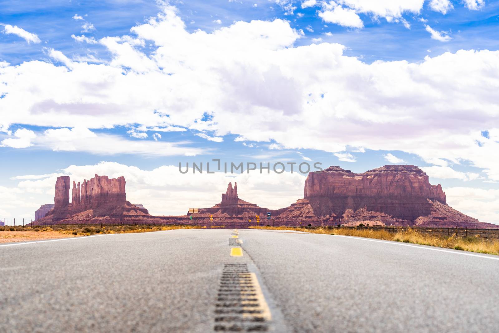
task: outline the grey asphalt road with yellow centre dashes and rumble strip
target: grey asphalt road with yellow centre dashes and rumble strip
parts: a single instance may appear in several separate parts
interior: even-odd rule
[[[0,245],[0,332],[499,332],[498,259],[271,230]]]

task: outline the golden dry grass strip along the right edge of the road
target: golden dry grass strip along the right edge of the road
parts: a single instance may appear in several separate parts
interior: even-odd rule
[[[499,240],[487,239],[476,236],[457,237],[429,235],[418,232],[414,229],[407,231],[390,233],[383,229],[355,229],[355,228],[290,228],[290,227],[250,227],[251,229],[272,229],[272,230],[297,230],[314,234],[343,235],[364,238],[382,239],[387,241],[404,242],[412,244],[430,245],[439,248],[463,250],[478,253],[499,255]]]

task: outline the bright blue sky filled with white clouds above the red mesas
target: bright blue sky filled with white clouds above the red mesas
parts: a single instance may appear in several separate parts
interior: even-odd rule
[[[152,197],[178,184],[150,176],[221,158],[416,164],[451,206],[499,223],[499,1],[389,2],[0,1],[0,218],[94,170],[180,214],[188,187],[215,204],[232,178],[186,179],[165,205]],[[303,176],[272,177],[240,179],[241,196],[302,195]]]

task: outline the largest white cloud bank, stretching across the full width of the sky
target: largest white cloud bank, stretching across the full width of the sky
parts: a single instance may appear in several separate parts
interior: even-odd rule
[[[0,128],[187,128],[286,149],[398,150],[499,180],[498,51],[366,63],[336,43],[295,46],[301,34],[281,19],[189,32],[171,6],[131,33],[99,40],[108,64],[54,50],[60,63],[1,67]],[[146,40],[155,45],[149,54]],[[211,119],[200,121],[207,110]]]

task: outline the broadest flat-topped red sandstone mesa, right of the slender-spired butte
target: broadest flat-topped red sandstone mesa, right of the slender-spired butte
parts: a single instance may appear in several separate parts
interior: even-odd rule
[[[451,208],[440,185],[415,165],[385,165],[364,173],[338,166],[310,172],[304,198],[287,207],[279,224],[495,227]]]

